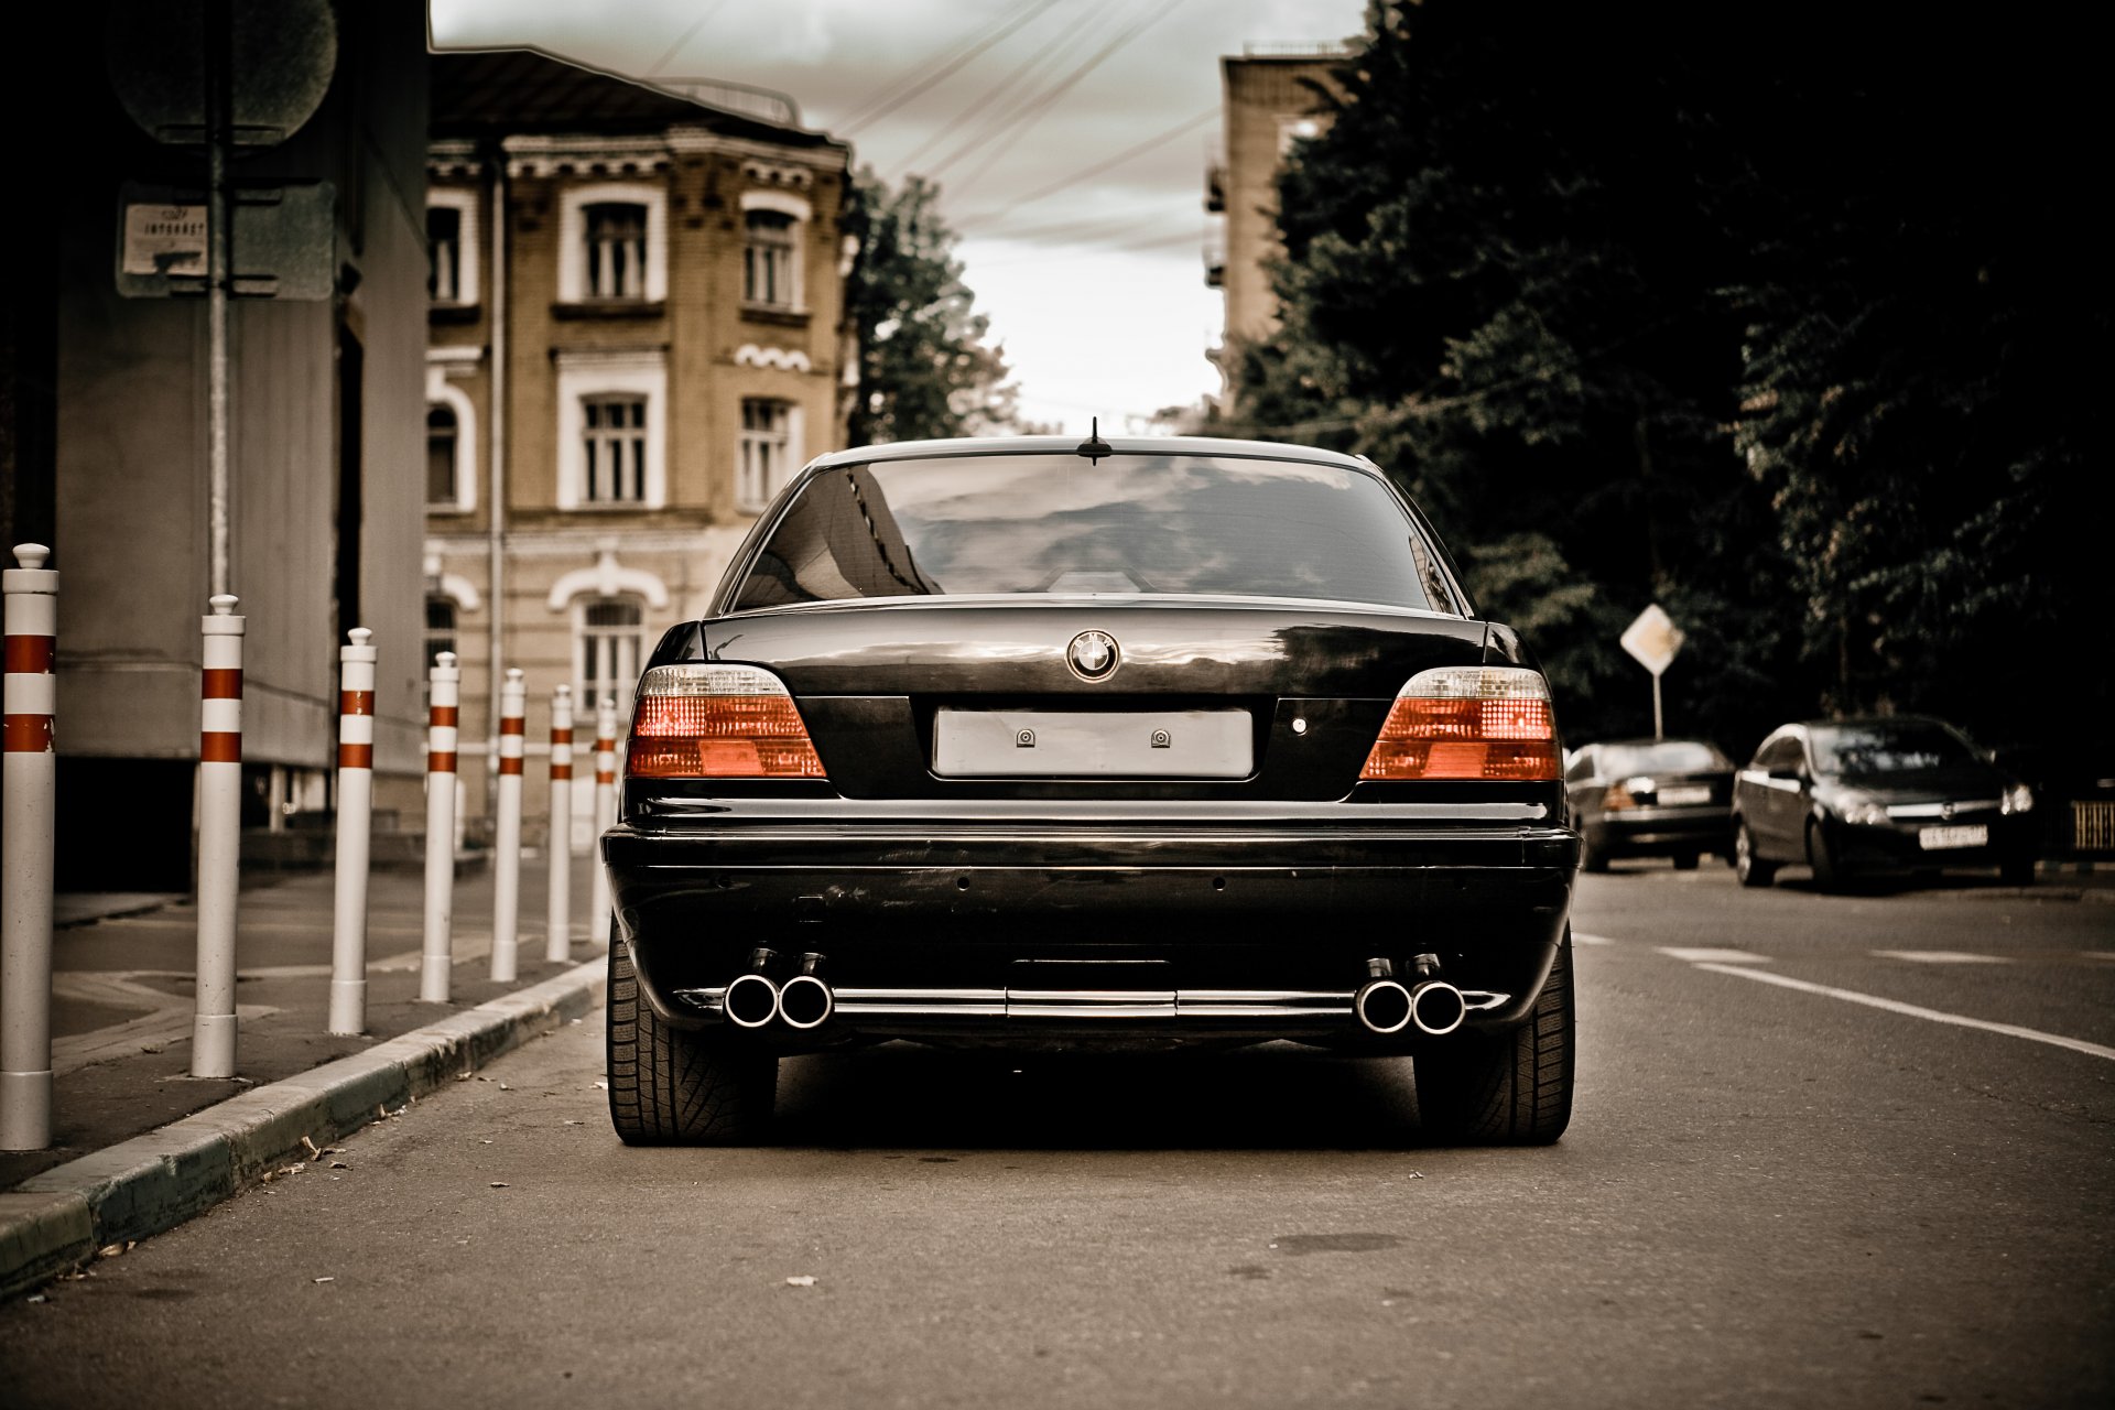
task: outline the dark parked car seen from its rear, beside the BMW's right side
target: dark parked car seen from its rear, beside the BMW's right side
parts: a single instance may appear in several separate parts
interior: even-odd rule
[[[1612,856],[1671,856],[1694,871],[1705,852],[1732,854],[1732,759],[1707,740],[1586,744],[1565,769],[1586,871]]]

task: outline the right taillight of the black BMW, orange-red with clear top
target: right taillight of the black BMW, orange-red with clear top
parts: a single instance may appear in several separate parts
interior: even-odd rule
[[[1411,676],[1360,778],[1555,780],[1550,685],[1521,666],[1440,666]]]

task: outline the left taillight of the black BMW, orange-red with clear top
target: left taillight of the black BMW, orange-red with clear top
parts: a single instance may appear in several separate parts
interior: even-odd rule
[[[656,666],[632,700],[632,778],[825,776],[785,681],[759,666]]]

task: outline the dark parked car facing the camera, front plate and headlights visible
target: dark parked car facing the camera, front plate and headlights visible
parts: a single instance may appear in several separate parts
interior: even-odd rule
[[[1734,778],[1734,871],[1768,886],[1781,862],[1806,862],[1827,888],[1861,873],[1997,867],[2024,886],[2033,808],[2026,784],[1944,721],[1785,725]]]

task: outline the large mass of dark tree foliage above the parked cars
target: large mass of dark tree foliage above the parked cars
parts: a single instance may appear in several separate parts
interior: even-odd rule
[[[1392,467],[1578,738],[1650,727],[1616,647],[1648,600],[1690,636],[1671,729],[2020,734],[1984,681],[2085,586],[2085,129],[1965,85],[1946,34],[1686,23],[1400,6],[1282,178],[1282,328],[1235,349],[1231,429]]]

